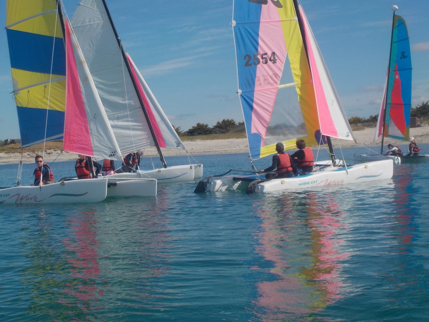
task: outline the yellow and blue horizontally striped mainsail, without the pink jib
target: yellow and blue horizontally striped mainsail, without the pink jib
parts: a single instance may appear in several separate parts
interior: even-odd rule
[[[66,55],[57,1],[7,0],[6,34],[22,147],[61,139]]]

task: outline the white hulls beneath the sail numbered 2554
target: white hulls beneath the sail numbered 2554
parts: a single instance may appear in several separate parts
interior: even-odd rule
[[[366,162],[347,167],[327,167],[305,176],[272,179],[256,184],[254,192],[270,192],[279,190],[297,190],[320,186],[341,186],[383,179],[393,176],[393,161],[382,160]],[[249,176],[251,177],[251,176]],[[235,178],[235,179],[234,179]],[[207,191],[225,191],[246,189],[249,181],[237,180],[237,176],[225,176],[207,183]]]

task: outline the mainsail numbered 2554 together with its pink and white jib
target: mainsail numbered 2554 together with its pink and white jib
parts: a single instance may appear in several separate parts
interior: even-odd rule
[[[323,135],[353,140],[297,1],[234,1],[233,27],[238,93],[251,158],[275,153],[279,141],[292,149],[296,139],[310,146],[319,144]]]

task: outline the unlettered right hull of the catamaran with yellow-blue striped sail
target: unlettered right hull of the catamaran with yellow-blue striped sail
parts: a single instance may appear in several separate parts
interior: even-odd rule
[[[107,197],[155,197],[156,195],[156,179],[108,178]]]

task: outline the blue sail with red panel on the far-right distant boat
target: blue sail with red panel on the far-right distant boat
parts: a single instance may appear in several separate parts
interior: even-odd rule
[[[393,16],[390,65],[374,140],[381,135],[408,141],[411,114],[411,52],[405,20]],[[385,115],[385,117],[384,117]],[[383,122],[384,120],[384,122]]]

